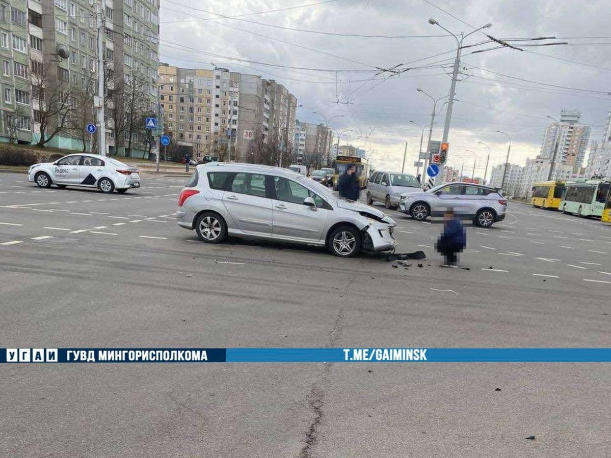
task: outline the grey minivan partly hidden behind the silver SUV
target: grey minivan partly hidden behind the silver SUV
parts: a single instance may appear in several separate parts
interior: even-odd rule
[[[376,171],[367,182],[367,204],[378,201],[387,209],[397,208],[402,194],[420,191],[420,182],[409,173]]]

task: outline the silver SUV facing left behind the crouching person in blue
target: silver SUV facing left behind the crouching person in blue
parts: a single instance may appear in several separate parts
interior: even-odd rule
[[[420,193],[401,195],[399,210],[423,221],[441,216],[451,207],[456,215],[473,220],[477,226],[490,227],[505,219],[507,200],[500,188],[470,183],[447,183]]]

